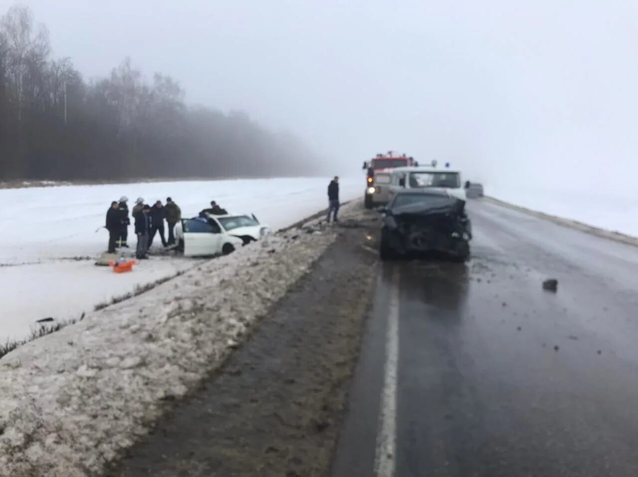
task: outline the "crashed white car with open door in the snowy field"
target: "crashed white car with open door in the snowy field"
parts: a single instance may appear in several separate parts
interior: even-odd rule
[[[269,235],[271,230],[259,223],[254,215],[207,215],[182,219],[175,226],[175,239],[184,256],[227,255],[255,240]]]

